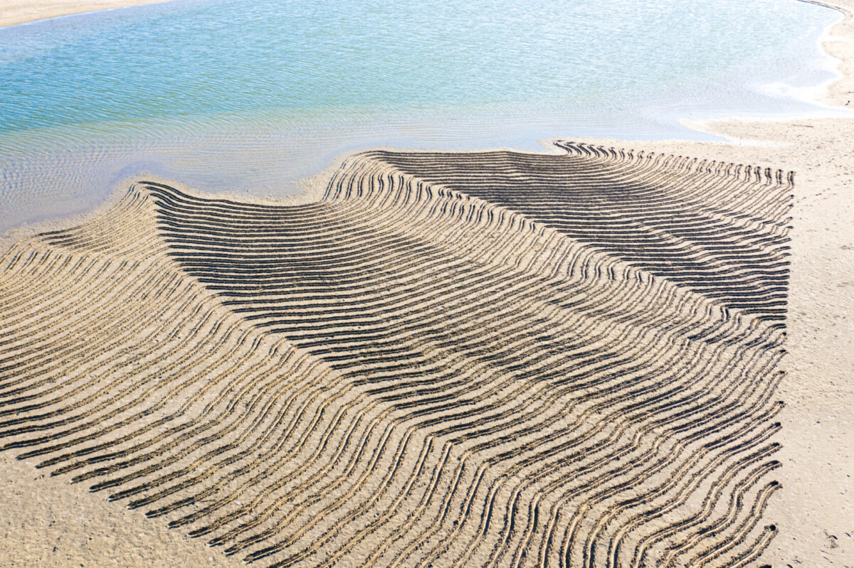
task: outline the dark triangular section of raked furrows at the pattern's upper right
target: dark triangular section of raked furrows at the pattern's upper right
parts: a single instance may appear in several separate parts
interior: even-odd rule
[[[789,239],[781,218],[730,207],[729,194],[748,183],[583,154],[371,155],[428,183],[523,213],[733,308],[785,316]],[[789,192],[777,193],[786,206]]]

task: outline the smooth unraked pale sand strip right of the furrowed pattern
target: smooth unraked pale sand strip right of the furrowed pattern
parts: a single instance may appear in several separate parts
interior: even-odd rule
[[[782,568],[854,566],[854,120],[703,126],[739,142],[645,141],[635,147],[785,163],[797,172],[789,355],[783,362],[790,373],[780,387],[787,407],[779,437],[784,467],[777,478],[784,490],[767,513],[778,520],[781,534],[763,560]]]

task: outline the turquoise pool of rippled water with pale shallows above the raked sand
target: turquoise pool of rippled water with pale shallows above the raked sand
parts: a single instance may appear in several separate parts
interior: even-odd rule
[[[180,0],[0,29],[0,230],[148,171],[287,194],[336,154],[701,137],[802,113],[839,19],[780,0]]]

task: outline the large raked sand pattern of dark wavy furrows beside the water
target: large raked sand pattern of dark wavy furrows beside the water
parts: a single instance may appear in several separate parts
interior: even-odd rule
[[[562,146],[20,241],[3,449],[263,565],[752,562],[792,177]]]

